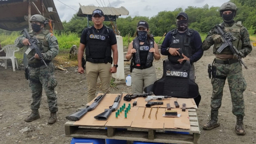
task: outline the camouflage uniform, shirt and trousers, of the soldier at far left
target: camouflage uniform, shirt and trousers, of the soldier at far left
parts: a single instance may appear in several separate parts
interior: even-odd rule
[[[54,91],[54,87],[57,86],[57,81],[54,76],[54,65],[51,62],[54,57],[59,53],[59,46],[58,41],[53,34],[49,32],[49,30],[42,30],[41,33],[35,34],[32,31],[29,33],[30,36],[34,36],[38,39],[38,46],[41,49],[43,54],[43,59],[46,61],[49,69],[46,68],[44,63],[41,60],[34,59],[33,61],[29,61],[29,86],[32,92],[32,102],[31,102],[31,109],[38,110],[40,107],[40,102],[42,98],[42,91],[43,88],[45,90],[47,96],[47,102],[49,105],[49,110],[51,113],[55,113],[58,111],[57,105],[57,97]],[[15,39],[14,44],[18,47],[23,47],[24,49],[28,49],[28,46],[23,45],[22,41],[25,39],[25,36],[20,36]],[[35,50],[32,50],[28,55],[27,58],[30,59],[35,55]],[[31,67],[33,65],[40,65],[40,67],[34,68]]]

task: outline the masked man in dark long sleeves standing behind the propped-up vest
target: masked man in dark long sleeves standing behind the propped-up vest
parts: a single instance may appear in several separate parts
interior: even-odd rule
[[[176,19],[178,28],[167,33],[161,46],[161,53],[168,55],[170,62],[165,61],[165,63],[169,62],[172,65],[177,65],[175,67],[179,67],[180,63],[183,65],[185,60],[189,61],[191,64],[188,73],[189,78],[195,82],[194,62],[198,61],[203,55],[202,39],[196,30],[188,28],[188,15],[185,12],[179,13]],[[169,64],[166,66],[169,66]],[[201,96],[198,96],[195,98],[197,106],[201,100]]]

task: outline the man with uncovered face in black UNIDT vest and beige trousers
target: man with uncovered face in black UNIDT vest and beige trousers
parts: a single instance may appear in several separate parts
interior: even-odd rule
[[[83,74],[82,57],[85,50],[86,65],[85,71],[87,75],[87,102],[95,98],[97,90],[97,79],[100,77],[101,88],[103,93],[110,92],[110,80],[112,73],[116,73],[118,67],[118,51],[117,41],[114,31],[103,25],[105,20],[104,13],[100,9],[96,9],[92,13],[92,21],[94,25],[85,28],[81,35],[78,49],[78,73]],[[111,57],[113,51],[113,58]]]

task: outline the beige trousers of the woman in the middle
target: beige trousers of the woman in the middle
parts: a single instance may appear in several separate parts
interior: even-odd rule
[[[132,70],[132,93],[142,93],[143,87],[147,87],[157,80],[154,66],[146,69]]]

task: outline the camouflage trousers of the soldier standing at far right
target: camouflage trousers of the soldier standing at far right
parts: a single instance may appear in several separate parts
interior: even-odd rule
[[[229,91],[231,93],[232,112],[234,115],[244,116],[244,97],[243,92],[246,89],[246,82],[242,73],[242,66],[240,62],[232,64],[214,63],[217,68],[217,76],[227,77]],[[211,97],[212,110],[218,110],[221,107],[221,100],[223,95],[223,87],[226,79],[212,78],[211,83],[213,87]]]

